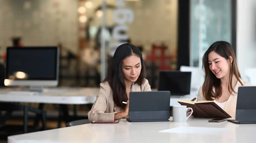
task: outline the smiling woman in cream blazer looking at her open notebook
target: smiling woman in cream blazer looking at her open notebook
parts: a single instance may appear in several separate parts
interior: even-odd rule
[[[214,101],[235,118],[238,87],[252,84],[241,79],[230,43],[214,42],[204,53],[203,66],[205,81],[199,88],[198,101]]]

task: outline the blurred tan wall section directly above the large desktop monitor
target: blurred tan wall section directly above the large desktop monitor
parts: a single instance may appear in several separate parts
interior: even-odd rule
[[[26,5],[28,4],[28,6]],[[78,50],[78,0],[0,0],[0,55],[21,36],[24,46]]]

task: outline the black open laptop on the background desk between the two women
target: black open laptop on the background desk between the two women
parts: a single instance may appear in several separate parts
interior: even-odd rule
[[[160,71],[158,91],[170,91],[172,96],[190,94],[191,72]]]

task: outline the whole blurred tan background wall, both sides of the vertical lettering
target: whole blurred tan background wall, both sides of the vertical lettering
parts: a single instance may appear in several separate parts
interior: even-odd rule
[[[91,26],[99,28],[101,17],[96,17],[95,9],[102,0],[87,0],[93,3],[87,8],[86,16],[95,17]],[[117,0],[106,0],[116,5]],[[24,3],[30,2],[30,8]],[[85,2],[85,1],[84,1]],[[56,45],[61,42],[73,53],[79,51],[78,7],[84,6],[79,0],[0,0],[0,55],[12,45],[12,36],[22,36],[24,46]],[[145,50],[151,44],[165,42],[170,51],[177,50],[177,3],[178,0],[125,1],[126,7],[134,12],[134,21],[128,26],[131,42],[143,45]],[[107,25],[113,25],[113,10],[107,11]]]

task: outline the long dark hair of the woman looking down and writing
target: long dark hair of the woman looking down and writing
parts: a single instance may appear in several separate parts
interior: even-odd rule
[[[123,104],[122,101],[127,101],[128,97],[125,92],[126,87],[125,87],[124,75],[122,73],[122,62],[123,62],[123,59],[132,55],[138,56],[140,58],[141,71],[140,71],[140,76],[138,77],[137,81],[135,81],[135,84],[138,84],[141,86],[146,77],[146,70],[145,70],[145,64],[142,58],[142,53],[140,52],[139,48],[129,43],[122,44],[116,49],[113,59],[111,60],[108,76],[103,81],[103,82],[108,81],[112,89],[113,100],[115,104],[118,107],[122,107],[123,109],[125,109],[126,105]]]

